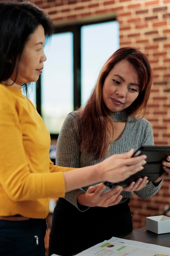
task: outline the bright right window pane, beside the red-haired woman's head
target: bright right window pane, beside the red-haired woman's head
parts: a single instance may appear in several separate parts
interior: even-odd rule
[[[99,72],[119,48],[119,24],[104,22],[81,28],[81,105],[84,105],[95,86]]]

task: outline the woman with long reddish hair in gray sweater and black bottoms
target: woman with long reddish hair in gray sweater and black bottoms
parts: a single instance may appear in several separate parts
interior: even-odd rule
[[[152,127],[143,118],[151,85],[152,70],[145,54],[132,47],[113,53],[85,106],[66,117],[57,140],[56,163],[79,168],[130,148],[153,145]],[[154,183],[139,178],[121,189],[94,183],[66,193],[53,212],[49,255],[71,256],[132,231],[128,203],[133,192],[151,198],[159,191],[161,179],[168,177],[164,173]],[[120,193],[117,200],[115,189]]]

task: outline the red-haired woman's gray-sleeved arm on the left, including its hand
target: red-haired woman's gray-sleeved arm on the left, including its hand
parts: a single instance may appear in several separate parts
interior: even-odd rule
[[[75,113],[76,112],[72,112],[71,114],[68,114],[68,116],[64,121],[62,130],[57,140],[56,164],[58,165],[71,166],[71,167],[82,167],[83,165],[82,163],[84,158],[83,157],[81,158],[81,155],[79,152],[77,134],[73,129],[75,125],[75,118],[76,118]],[[88,189],[86,193],[83,189],[76,189],[74,191],[66,193],[65,199],[68,200],[68,202],[72,203],[75,207],[77,207],[81,211],[88,209],[86,205],[98,206],[98,205],[89,204],[89,201],[92,202],[93,200],[94,202],[96,200],[95,198],[96,195],[98,198],[101,198],[102,202],[104,202],[104,198],[106,199],[106,203],[104,202],[105,207],[106,205],[110,204],[110,202],[108,202],[109,201],[108,198],[110,198],[111,200],[112,196],[114,197],[114,198],[112,197],[112,200],[111,200],[112,204],[114,205],[118,202],[116,197],[117,195],[116,189],[107,191],[107,193],[104,193],[104,195],[100,196],[100,191],[102,192],[102,187],[100,186],[98,188],[96,185],[95,188],[97,190],[94,192],[94,187],[93,187],[93,193],[91,192],[92,189],[90,190]],[[88,199],[90,198],[90,200],[87,200],[87,198]],[[121,198],[119,197],[119,199]],[[88,202],[88,203],[86,204],[85,202]],[[83,204],[84,206],[80,204]]]

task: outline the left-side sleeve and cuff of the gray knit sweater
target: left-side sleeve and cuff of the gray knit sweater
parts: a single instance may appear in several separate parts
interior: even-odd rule
[[[74,129],[76,119],[76,111],[67,115],[56,146],[56,164],[60,166],[67,166],[79,168],[80,150],[77,138],[77,132]],[[67,192],[65,199],[73,204],[80,211],[85,211],[89,207],[80,206],[77,204],[77,198],[80,194],[85,193],[82,188]],[[80,208],[79,208],[80,207]]]

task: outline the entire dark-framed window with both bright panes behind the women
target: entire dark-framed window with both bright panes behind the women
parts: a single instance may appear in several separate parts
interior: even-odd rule
[[[37,109],[57,138],[69,112],[84,105],[107,58],[119,48],[116,20],[58,27],[44,52]]]

